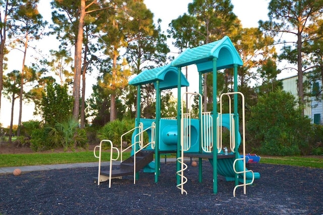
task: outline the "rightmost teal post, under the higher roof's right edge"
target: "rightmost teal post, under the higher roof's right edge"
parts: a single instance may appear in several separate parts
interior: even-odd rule
[[[234,92],[238,92],[238,64],[233,65],[234,69]],[[239,115],[238,115],[238,94],[234,94],[234,126],[235,126],[235,139],[238,139],[238,131],[239,131]],[[235,156],[236,159],[240,158],[238,152],[238,146],[235,146]],[[238,174],[235,174],[235,185],[239,184]]]

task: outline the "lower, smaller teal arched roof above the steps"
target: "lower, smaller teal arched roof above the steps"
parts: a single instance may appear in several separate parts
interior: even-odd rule
[[[178,68],[171,66],[161,66],[158,68],[146,69],[139,73],[136,77],[129,81],[129,85],[144,85],[149,83],[156,83],[159,81],[159,89],[166,90],[177,88],[178,80]],[[189,86],[189,83],[185,76],[181,73],[181,86]]]

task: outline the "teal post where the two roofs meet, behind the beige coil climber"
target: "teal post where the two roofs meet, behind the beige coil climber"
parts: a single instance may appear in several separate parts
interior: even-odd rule
[[[177,78],[177,153],[176,158],[181,156],[181,67],[178,67]],[[181,170],[181,165],[176,162],[176,172]],[[181,183],[181,178],[176,174],[177,184]]]

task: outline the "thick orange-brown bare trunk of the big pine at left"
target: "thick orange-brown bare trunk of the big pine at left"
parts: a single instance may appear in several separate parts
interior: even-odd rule
[[[73,118],[79,119],[80,107],[80,85],[81,85],[81,68],[82,68],[82,44],[83,44],[83,27],[85,17],[85,0],[81,0],[80,19],[77,32],[77,41],[75,45],[75,71],[73,83]]]

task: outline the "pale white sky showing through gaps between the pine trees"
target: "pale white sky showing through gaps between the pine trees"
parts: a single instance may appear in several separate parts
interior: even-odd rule
[[[49,0],[40,0],[38,10],[40,14],[43,16],[43,19],[50,21],[51,12],[50,12],[50,2]],[[180,15],[187,13],[187,6],[189,3],[192,3],[193,0],[144,0],[147,8],[154,14],[154,20],[161,19],[161,29],[167,34],[168,24],[171,23],[172,20],[177,19]],[[267,20],[267,6],[270,0],[231,0],[231,3],[234,6],[233,12],[236,16],[241,20],[241,24],[244,28],[258,27],[259,20]],[[252,7],[251,7],[252,6]],[[49,49],[57,50],[58,42],[53,38],[43,39],[37,46],[40,47],[44,52],[48,52]],[[171,52],[177,52],[172,45],[171,41],[169,41],[169,46]],[[29,52],[32,53],[32,52]],[[19,56],[19,57],[17,57]],[[9,55],[9,69],[8,71],[12,71],[13,69],[21,70],[22,61],[21,53],[12,52]],[[34,60],[35,53],[30,55],[27,58],[27,61]],[[27,64],[27,63],[26,63]],[[28,65],[28,64],[27,64]],[[96,77],[87,77],[87,81],[95,83]],[[190,79],[188,79],[190,83]],[[87,96],[91,94],[92,84],[87,84]],[[192,85],[194,88],[194,85]],[[193,92],[196,90],[192,90]],[[11,103],[2,97],[1,100],[1,113],[0,113],[0,123],[3,124],[4,127],[10,125],[10,115],[11,115]],[[28,111],[26,111],[28,109]],[[19,116],[19,100],[15,101],[15,110],[14,110],[14,124],[18,124],[18,116]],[[28,121],[31,119],[40,120],[39,116],[33,116],[33,105],[23,103],[23,112],[22,112],[22,121]]]

